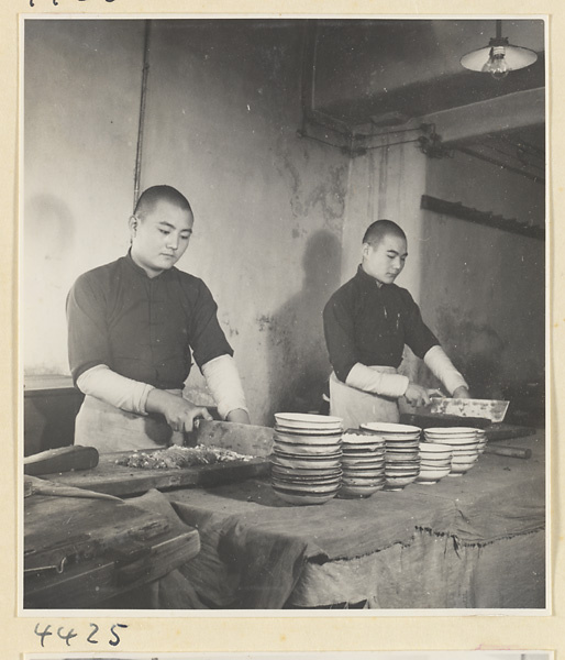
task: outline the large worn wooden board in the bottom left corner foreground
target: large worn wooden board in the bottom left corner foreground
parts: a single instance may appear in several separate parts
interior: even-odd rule
[[[200,550],[176,515],[126,502],[24,502],[25,607],[87,607],[157,580]]]

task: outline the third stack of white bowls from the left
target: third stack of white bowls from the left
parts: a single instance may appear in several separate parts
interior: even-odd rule
[[[385,439],[385,476],[387,491],[401,491],[416,481],[420,472],[419,427],[374,421],[361,425]]]

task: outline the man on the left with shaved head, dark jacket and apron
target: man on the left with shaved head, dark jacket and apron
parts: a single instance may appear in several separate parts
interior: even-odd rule
[[[75,443],[100,452],[182,444],[206,407],[182,397],[191,359],[220,416],[248,424],[233,351],[206,284],[175,267],[192,234],[186,197],[154,186],[130,218],[125,256],[82,274],[67,297],[73,378],[86,395]]]

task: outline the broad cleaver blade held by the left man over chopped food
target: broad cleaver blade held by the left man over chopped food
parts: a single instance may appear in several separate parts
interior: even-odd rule
[[[275,430],[268,427],[207,419],[197,420],[195,426],[196,429],[187,433],[190,447],[214,444],[253,457],[268,457],[273,450]]]

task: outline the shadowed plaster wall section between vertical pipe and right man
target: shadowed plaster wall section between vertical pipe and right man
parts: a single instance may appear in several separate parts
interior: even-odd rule
[[[151,43],[142,188],[169,183],[191,201],[178,266],[217,298],[253,419],[317,409],[348,158],[297,135],[301,31],[164,21]]]

